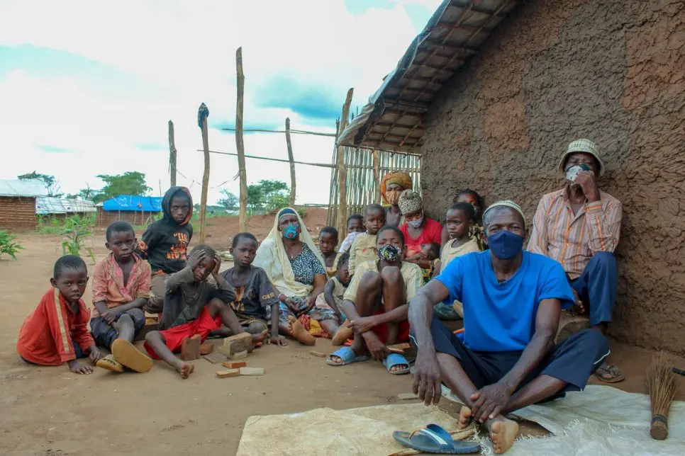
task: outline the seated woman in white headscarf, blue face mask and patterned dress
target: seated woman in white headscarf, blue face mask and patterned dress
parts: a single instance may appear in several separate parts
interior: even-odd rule
[[[298,323],[301,315],[318,321],[333,336],[340,321],[330,307],[317,307],[316,297],[328,280],[325,263],[296,210],[279,210],[267,239],[257,249],[255,266],[266,271],[279,293],[279,331],[312,345],[313,337]]]

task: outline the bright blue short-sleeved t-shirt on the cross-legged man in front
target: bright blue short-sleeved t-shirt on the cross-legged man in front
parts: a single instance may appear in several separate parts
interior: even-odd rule
[[[437,278],[450,290],[450,302],[464,304],[464,343],[474,351],[518,351],[535,333],[540,301],[556,298],[562,307],[574,296],[562,265],[523,251],[516,273],[498,283],[490,251],[450,261]]]

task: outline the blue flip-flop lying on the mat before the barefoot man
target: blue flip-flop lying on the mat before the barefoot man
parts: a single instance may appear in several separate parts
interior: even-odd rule
[[[437,424],[429,424],[412,433],[395,431],[392,437],[401,445],[421,452],[441,455],[464,455],[480,452],[481,445],[475,442],[454,440],[452,435]]]

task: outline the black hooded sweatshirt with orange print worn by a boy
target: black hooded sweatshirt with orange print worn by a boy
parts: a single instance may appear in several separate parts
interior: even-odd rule
[[[190,210],[188,217],[178,223],[171,215],[171,200],[177,193],[185,193]],[[193,236],[193,225],[189,223],[193,215],[193,198],[185,187],[172,187],[162,199],[162,220],[152,223],[138,242],[136,253],[146,259],[152,268],[152,274],[162,271],[165,274],[179,272],[186,266],[188,244]]]

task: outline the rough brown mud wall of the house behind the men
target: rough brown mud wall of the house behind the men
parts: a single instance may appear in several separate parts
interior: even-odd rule
[[[441,220],[464,187],[532,220],[564,147],[599,144],[623,203],[611,334],[685,353],[685,2],[519,2],[435,100],[421,185]]]

